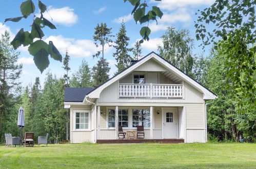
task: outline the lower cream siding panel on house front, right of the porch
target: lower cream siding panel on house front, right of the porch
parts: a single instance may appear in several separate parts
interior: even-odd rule
[[[205,130],[187,130],[187,143],[202,142],[205,143]]]

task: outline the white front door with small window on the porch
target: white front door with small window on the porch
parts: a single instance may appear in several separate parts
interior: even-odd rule
[[[168,108],[163,109],[163,136],[167,138],[177,137],[177,109]]]

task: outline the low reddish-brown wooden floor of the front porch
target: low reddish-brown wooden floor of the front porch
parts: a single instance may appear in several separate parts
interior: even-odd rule
[[[184,139],[111,139],[111,140],[97,140],[97,143],[113,144],[113,143],[143,143],[143,142],[157,142],[157,143],[184,143]]]

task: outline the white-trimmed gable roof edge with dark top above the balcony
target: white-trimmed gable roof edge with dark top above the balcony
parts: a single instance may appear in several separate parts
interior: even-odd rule
[[[201,91],[204,94],[203,99],[211,100],[211,99],[215,99],[217,97],[212,91],[210,91],[209,89],[204,87],[201,83],[199,83],[198,81],[196,81],[195,79],[193,79],[189,75],[185,74],[182,70],[180,70],[179,68],[175,67],[169,61],[167,61],[166,59],[164,59],[160,55],[156,54],[155,52],[151,52],[151,53],[147,54],[146,56],[144,56],[143,58],[141,58],[140,60],[138,60],[134,64],[130,65],[129,67],[127,67],[126,69],[121,71],[120,73],[118,73],[115,76],[111,77],[110,79],[108,79],[107,81],[102,83],[102,85],[100,85],[97,88],[95,88],[92,91],[90,91],[86,95],[86,97],[89,97],[89,98],[99,98],[100,97],[100,93],[102,92],[103,89],[105,89],[107,86],[111,85],[116,80],[124,77],[125,75],[127,75],[131,71],[135,70],[137,67],[141,66],[142,64],[144,64],[147,60],[149,60],[151,58],[154,58],[155,61],[157,61],[159,64],[161,64],[164,67],[166,67],[167,69],[173,71],[173,73],[176,74],[178,77],[181,77],[183,80],[188,82],[191,86],[193,86],[194,88],[196,88],[199,91]],[[85,101],[85,98],[84,98],[84,101]]]

